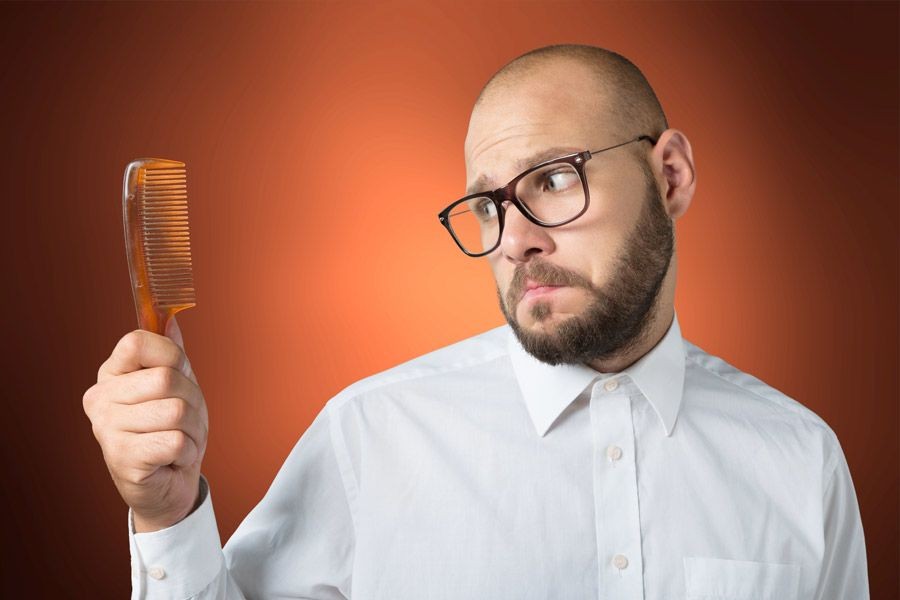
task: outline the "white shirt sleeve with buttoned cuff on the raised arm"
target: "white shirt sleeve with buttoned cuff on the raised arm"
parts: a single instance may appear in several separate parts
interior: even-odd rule
[[[135,533],[132,600],[350,597],[354,527],[329,413],[300,437],[262,501],[222,548],[208,482],[172,527]]]

